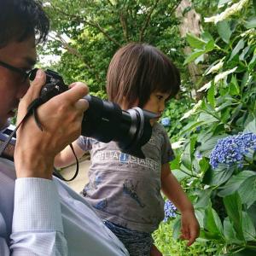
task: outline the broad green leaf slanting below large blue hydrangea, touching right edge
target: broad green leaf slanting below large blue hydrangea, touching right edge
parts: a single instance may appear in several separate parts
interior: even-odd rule
[[[240,188],[241,184],[245,182],[247,177],[255,175],[253,171],[242,171],[237,175],[230,177],[230,180],[224,184],[223,187],[219,188],[218,196],[224,197],[226,195],[231,195]]]

